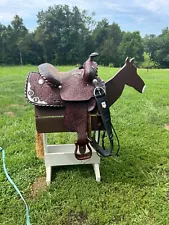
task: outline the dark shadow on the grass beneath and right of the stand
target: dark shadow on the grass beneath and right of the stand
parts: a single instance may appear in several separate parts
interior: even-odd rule
[[[158,154],[145,152],[143,149],[138,152],[133,146],[130,149],[123,148],[119,157],[101,158],[101,184],[116,182],[138,186],[152,185],[161,161]],[[57,182],[58,176],[63,176],[63,179],[78,177],[80,180],[95,181],[93,166],[88,164],[53,167],[52,181]]]

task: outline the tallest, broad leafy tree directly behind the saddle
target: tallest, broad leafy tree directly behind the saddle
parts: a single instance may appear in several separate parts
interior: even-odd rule
[[[38,13],[39,26],[35,34],[44,59],[55,64],[79,63],[79,59],[86,56],[91,23],[86,11],[81,12],[76,6],[70,10],[67,5],[55,5]]]

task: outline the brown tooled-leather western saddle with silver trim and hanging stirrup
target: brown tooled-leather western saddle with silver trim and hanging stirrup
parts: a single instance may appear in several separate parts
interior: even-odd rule
[[[29,73],[26,81],[25,95],[29,102],[37,106],[65,107],[64,124],[68,131],[77,132],[75,156],[80,160],[92,155],[88,112],[96,108],[95,86],[105,89],[104,81],[97,75],[97,63],[93,61],[97,55],[92,53],[82,67],[69,72],[59,72],[49,63],[41,64],[39,73]]]

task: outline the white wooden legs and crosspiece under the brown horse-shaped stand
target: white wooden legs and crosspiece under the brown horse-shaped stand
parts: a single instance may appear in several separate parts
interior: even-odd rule
[[[100,157],[96,151],[92,148],[92,157],[87,160],[77,160],[74,155],[74,144],[64,145],[48,145],[47,134],[43,134],[43,145],[44,145],[44,160],[46,166],[46,183],[51,183],[52,166],[63,166],[63,165],[83,165],[92,164],[96,181],[100,182]]]

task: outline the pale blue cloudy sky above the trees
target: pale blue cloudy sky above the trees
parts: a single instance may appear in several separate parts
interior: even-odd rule
[[[77,6],[95,12],[93,19],[107,18],[109,23],[117,23],[122,31],[140,31],[146,34],[161,34],[169,27],[169,0],[0,0],[0,23],[8,25],[17,14],[25,26],[33,31],[37,26],[37,14],[54,5]]]

